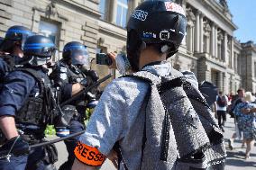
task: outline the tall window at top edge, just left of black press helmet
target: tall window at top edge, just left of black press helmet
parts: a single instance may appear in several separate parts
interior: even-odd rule
[[[117,0],[116,24],[125,27],[127,22],[128,0]]]

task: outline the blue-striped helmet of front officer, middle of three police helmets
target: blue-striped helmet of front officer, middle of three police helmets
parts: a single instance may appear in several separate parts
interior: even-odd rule
[[[33,35],[24,43],[24,56],[31,60],[32,65],[46,64],[55,51],[56,46],[52,40],[42,35]]]

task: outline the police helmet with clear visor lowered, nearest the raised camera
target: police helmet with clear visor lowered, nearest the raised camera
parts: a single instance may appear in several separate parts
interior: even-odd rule
[[[73,65],[89,66],[87,47],[77,41],[71,41],[64,46],[62,57],[71,59]]]

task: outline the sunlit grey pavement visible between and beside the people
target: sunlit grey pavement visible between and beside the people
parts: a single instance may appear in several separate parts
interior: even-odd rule
[[[229,116],[227,116],[229,117]],[[228,119],[225,126],[224,137],[225,141],[229,139],[234,132],[233,119]],[[227,146],[227,143],[226,143]],[[234,149],[227,148],[227,161],[225,170],[256,170],[256,147],[251,151],[251,158],[248,160],[243,159],[245,148],[241,148],[242,142],[235,140]],[[57,144],[59,151],[59,161],[56,166],[59,167],[67,159],[67,151],[63,142]],[[114,170],[114,166],[106,161],[101,170]]]

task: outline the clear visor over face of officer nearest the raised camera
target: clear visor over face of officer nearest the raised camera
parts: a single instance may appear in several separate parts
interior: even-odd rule
[[[76,49],[71,51],[71,62],[73,65],[89,66],[89,56],[87,49]]]

